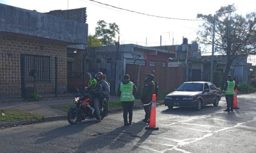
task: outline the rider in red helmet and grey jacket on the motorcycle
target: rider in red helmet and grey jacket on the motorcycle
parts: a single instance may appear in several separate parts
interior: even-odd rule
[[[101,108],[102,108],[103,99],[109,97],[110,86],[106,81],[103,80],[102,72],[96,73],[95,79],[98,81],[98,84],[102,86],[102,93],[99,96],[99,101],[101,102]],[[107,110],[107,112],[108,112],[108,110]],[[106,114],[106,115],[108,115],[108,114]]]

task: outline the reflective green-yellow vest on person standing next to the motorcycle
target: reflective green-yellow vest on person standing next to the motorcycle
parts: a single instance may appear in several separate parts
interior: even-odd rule
[[[131,81],[127,84],[124,84],[123,82],[121,82],[120,91],[121,91],[120,101],[129,102],[129,101],[135,100],[133,95],[133,83]]]

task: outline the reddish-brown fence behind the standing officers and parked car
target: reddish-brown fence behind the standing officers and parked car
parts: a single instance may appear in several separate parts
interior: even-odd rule
[[[147,73],[154,74],[155,81],[158,82],[159,93],[173,91],[185,80],[183,67],[163,67],[161,63],[156,63],[154,67],[126,64],[126,74],[130,75],[131,81],[139,89],[142,89],[144,84],[143,76]]]

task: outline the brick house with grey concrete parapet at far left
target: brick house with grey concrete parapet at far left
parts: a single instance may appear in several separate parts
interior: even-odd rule
[[[52,97],[56,87],[67,89],[67,46],[87,44],[85,20],[0,4],[0,21],[1,96],[25,97],[34,87]]]

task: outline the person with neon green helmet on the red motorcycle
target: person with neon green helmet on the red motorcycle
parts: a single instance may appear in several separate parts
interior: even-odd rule
[[[86,90],[88,90],[89,93],[93,97],[93,105],[94,105],[94,109],[97,113],[97,121],[96,122],[101,122],[101,115],[100,115],[100,111],[99,111],[99,97],[102,93],[102,86],[97,83],[97,80],[90,79],[89,87],[87,87]]]

